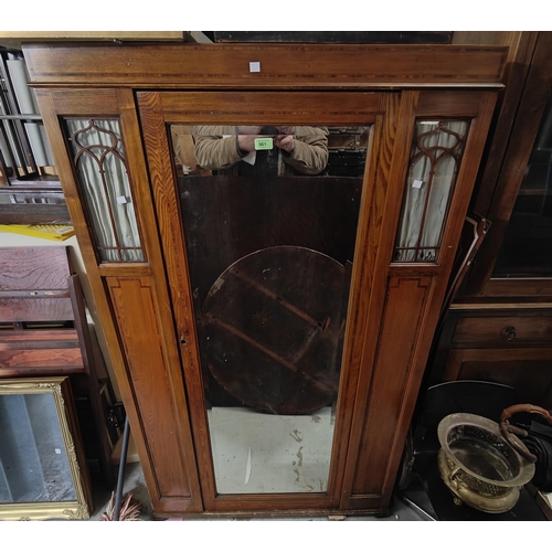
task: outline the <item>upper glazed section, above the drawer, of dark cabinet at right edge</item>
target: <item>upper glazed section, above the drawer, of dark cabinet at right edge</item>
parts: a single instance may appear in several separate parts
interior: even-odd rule
[[[552,297],[552,33],[528,32],[521,39],[511,79],[523,77],[523,85],[503,97],[473,200],[474,210],[492,226],[467,280],[466,300],[542,304]]]

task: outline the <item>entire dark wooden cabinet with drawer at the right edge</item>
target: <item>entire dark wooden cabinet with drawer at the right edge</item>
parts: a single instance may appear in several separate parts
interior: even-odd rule
[[[438,336],[431,380],[512,385],[550,408],[552,33],[523,32],[471,208],[491,223]]]

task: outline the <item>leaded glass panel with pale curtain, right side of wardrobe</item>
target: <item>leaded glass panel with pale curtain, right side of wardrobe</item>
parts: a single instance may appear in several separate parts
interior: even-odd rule
[[[468,128],[465,120],[416,123],[395,262],[437,262]]]

